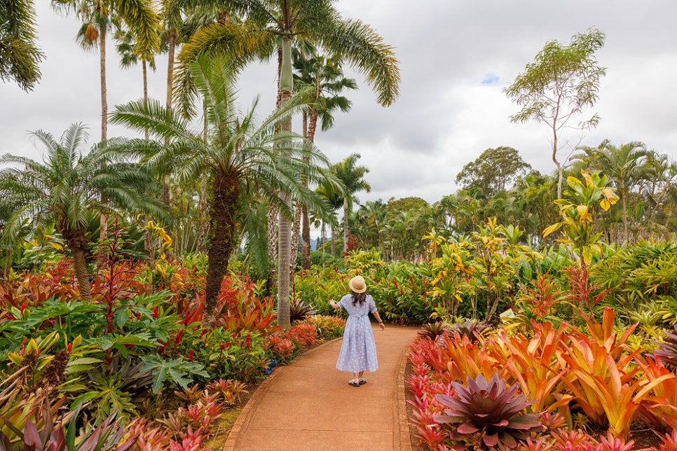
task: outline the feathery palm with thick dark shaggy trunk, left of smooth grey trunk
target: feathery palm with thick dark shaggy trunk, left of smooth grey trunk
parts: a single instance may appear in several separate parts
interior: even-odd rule
[[[166,146],[137,141],[139,150],[150,151],[145,159],[147,164],[166,164],[171,160],[175,162],[179,176],[205,174],[212,180],[212,226],[203,319],[206,324],[214,312],[228,261],[235,249],[236,219],[242,207],[265,196],[285,218],[289,218],[292,212],[286,199],[290,197],[306,202],[317,211],[326,211],[320,197],[304,187],[301,179],[305,176],[310,181],[325,181],[325,174],[318,165],[327,165],[327,159],[298,135],[280,130],[280,123],[301,108],[298,98],[257,125],[258,99],[251,110],[240,113],[236,104],[234,71],[224,58],[212,60],[203,56],[190,67],[207,113],[206,142],[201,130],[191,129],[189,119],[165,109],[159,102],[137,101],[117,106],[111,121],[139,131],[147,129],[160,141],[169,140]]]

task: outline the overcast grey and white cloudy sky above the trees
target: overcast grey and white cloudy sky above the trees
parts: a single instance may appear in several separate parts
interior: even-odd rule
[[[36,1],[40,46],[47,59],[33,92],[0,83],[0,152],[41,159],[29,131],[60,137],[71,123],[100,136],[98,57],[83,53],[74,36],[78,23]],[[349,69],[360,89],[348,95],[350,113],[337,113],[335,126],[316,144],[333,162],[360,153],[369,168],[365,200],[418,196],[435,202],[455,192],[456,175],[486,148],[511,146],[541,172],[552,172],[547,128],[512,124],[517,106],[503,94],[547,41],[569,43],[597,28],[606,34],[596,54],[607,68],[594,110],[596,130],[580,143],[610,139],[620,146],[643,141],[659,153],[677,156],[677,2],[674,0],[338,0],[346,18],[360,18],[395,47],[402,75],[400,96],[389,108],[376,104],[364,78]],[[142,95],[141,69],[122,71],[109,46],[108,102]],[[150,95],[164,100],[166,59],[150,75]],[[273,108],[275,69],[247,69],[240,103],[261,95],[259,113]],[[109,137],[129,135],[109,126]],[[570,142],[577,144],[578,135]],[[559,155],[560,160],[570,150]]]

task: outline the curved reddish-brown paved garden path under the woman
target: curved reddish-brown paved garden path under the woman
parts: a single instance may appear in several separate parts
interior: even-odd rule
[[[416,327],[374,327],[378,370],[367,384],[336,369],[342,339],[275,368],[233,425],[224,451],[410,451],[404,368]]]

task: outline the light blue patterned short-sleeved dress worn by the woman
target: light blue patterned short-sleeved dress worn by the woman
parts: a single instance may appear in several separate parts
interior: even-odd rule
[[[376,312],[374,298],[367,295],[364,304],[353,305],[353,295],[347,294],[338,301],[338,305],[348,312],[348,321],[343,332],[343,344],[341,353],[338,354],[336,368],[350,373],[376,371],[378,368],[376,342],[369,321],[369,312]]]

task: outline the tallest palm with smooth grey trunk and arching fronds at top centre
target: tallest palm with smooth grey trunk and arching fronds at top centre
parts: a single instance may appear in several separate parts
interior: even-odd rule
[[[225,53],[235,57],[235,64],[241,67],[253,60],[268,59],[280,49],[278,106],[282,108],[294,90],[292,43],[308,41],[357,69],[376,90],[377,101],[389,106],[399,94],[399,69],[392,47],[369,25],[342,18],[333,4],[334,0],[224,1],[223,20],[200,30],[184,46],[179,60],[186,67],[200,53]],[[242,24],[227,20],[233,13],[242,18]],[[183,79],[179,91],[189,97],[190,77]],[[282,127],[292,130],[291,118]],[[289,275],[282,268],[289,268],[291,230],[284,215],[280,214],[278,223],[278,315],[282,325],[287,326],[284,321],[289,312]]]

